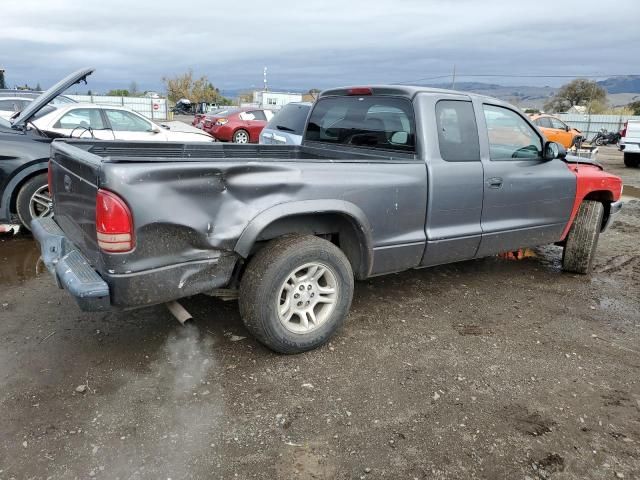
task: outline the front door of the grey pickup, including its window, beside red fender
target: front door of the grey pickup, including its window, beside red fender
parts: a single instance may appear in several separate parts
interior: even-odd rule
[[[480,104],[481,105],[478,105]],[[484,165],[482,241],[477,256],[556,242],[569,221],[576,177],[542,158],[544,139],[516,110],[477,101]]]

